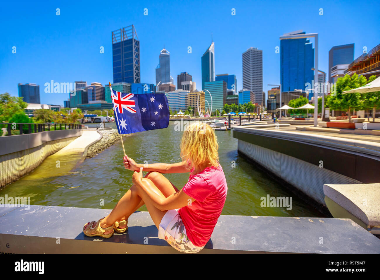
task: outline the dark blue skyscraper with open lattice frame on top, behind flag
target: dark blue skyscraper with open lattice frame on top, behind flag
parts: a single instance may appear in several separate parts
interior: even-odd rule
[[[112,31],[114,83],[140,83],[140,42],[135,26]]]

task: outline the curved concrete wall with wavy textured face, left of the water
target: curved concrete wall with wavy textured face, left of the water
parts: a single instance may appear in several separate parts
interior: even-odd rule
[[[72,129],[0,137],[0,187],[32,171],[82,132]]]

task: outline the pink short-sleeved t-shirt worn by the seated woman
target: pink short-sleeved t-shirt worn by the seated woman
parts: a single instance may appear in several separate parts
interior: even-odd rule
[[[182,190],[196,200],[180,208],[178,213],[190,241],[201,247],[209,241],[226,201],[227,182],[222,166],[206,167],[190,176]]]

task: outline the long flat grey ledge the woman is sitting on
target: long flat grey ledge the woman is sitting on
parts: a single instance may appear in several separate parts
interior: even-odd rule
[[[0,252],[180,253],[158,239],[148,212],[132,214],[124,234],[108,239],[83,234],[84,224],[109,212],[38,205],[0,208]],[[222,215],[200,253],[380,253],[380,240],[350,219]]]

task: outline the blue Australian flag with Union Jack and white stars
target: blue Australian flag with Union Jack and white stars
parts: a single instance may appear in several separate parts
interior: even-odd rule
[[[165,93],[122,93],[111,89],[119,134],[166,128],[169,105]]]

